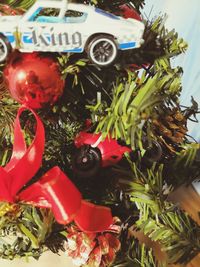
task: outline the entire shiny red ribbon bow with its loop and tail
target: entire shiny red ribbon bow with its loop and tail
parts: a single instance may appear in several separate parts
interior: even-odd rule
[[[0,200],[11,203],[25,201],[38,207],[51,208],[61,224],[72,220],[85,232],[102,232],[113,223],[109,208],[82,199],[81,193],[59,169],[50,169],[40,180],[18,194],[36,174],[42,163],[45,145],[44,126],[37,114],[29,109],[37,122],[35,138],[27,148],[20,125],[21,107],[14,125],[14,144],[10,162],[0,167]]]

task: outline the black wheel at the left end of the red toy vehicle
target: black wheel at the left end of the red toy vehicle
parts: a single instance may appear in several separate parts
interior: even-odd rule
[[[101,168],[101,152],[98,148],[84,145],[77,149],[72,165],[77,176],[93,177]]]

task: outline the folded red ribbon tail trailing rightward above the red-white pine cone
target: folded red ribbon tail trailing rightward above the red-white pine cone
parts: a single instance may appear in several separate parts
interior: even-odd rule
[[[113,223],[110,209],[82,200],[76,186],[59,167],[49,170],[22,191],[19,198],[38,207],[51,208],[57,222],[67,224],[74,220],[85,232],[102,232]]]

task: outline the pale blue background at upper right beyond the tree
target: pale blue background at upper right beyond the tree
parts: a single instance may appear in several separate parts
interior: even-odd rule
[[[143,15],[151,19],[159,13],[168,15],[166,27],[175,28],[189,45],[187,52],[174,60],[184,71],[181,103],[189,106],[193,96],[200,108],[200,0],[146,0]],[[200,142],[200,122],[189,122],[188,128]]]

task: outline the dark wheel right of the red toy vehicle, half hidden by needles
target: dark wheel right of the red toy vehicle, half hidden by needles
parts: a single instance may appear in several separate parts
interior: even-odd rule
[[[152,145],[146,148],[144,157],[150,162],[158,162],[162,157],[162,147],[161,145],[153,140]]]

